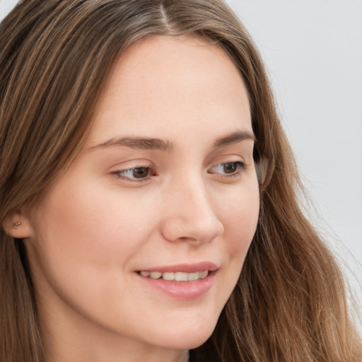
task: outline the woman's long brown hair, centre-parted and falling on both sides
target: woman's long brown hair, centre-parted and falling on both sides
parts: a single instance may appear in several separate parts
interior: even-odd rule
[[[361,362],[336,262],[300,180],[261,58],[222,0],[21,1],[0,25],[0,221],[39,201],[81,149],[115,60],[147,35],[194,34],[240,70],[257,137],[260,214],[235,291],[192,361]],[[45,362],[21,240],[0,229],[0,361]]]

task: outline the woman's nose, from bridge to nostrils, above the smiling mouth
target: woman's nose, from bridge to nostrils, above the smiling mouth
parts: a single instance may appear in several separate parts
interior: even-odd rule
[[[182,177],[173,182],[163,200],[161,231],[166,240],[202,244],[223,234],[223,223],[216,215],[217,207],[202,180]]]

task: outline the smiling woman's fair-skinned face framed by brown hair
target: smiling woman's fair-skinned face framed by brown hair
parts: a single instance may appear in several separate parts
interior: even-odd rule
[[[149,37],[119,58],[94,117],[81,153],[28,215],[46,338],[90,350],[105,336],[199,346],[259,214],[242,78],[215,45]]]

